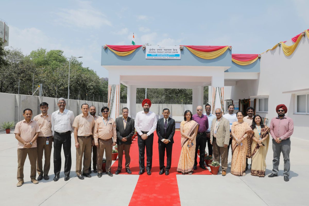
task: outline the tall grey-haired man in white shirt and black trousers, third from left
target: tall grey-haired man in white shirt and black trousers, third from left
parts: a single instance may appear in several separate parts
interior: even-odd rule
[[[64,162],[64,181],[70,179],[70,171],[72,165],[71,157],[71,133],[73,132],[73,111],[66,109],[66,100],[64,98],[58,99],[57,111],[52,114],[52,131],[54,140],[54,181],[59,180],[59,174],[61,171],[61,147],[63,146],[63,152],[65,157]]]

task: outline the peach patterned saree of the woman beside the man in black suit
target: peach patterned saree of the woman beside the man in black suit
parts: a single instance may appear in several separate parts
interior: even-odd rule
[[[193,146],[191,147],[188,147],[188,143],[190,143],[189,139],[181,136],[181,153],[177,166],[177,172],[187,174],[193,170],[198,124],[193,120],[188,122],[182,121],[181,124],[183,124],[183,133],[190,137],[194,136],[192,141]]]

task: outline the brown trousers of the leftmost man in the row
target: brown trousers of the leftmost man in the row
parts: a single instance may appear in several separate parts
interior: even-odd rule
[[[36,147],[32,148],[23,148],[23,149],[17,149],[17,180],[23,181],[23,165],[25,164],[26,158],[28,158],[30,161],[30,168],[31,168],[31,174],[30,178],[36,178]]]

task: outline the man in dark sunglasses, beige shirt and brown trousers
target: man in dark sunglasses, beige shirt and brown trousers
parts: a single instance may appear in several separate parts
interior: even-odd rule
[[[112,148],[116,145],[117,142],[116,123],[111,117],[108,117],[108,107],[102,107],[101,112],[102,117],[95,121],[94,130],[95,146],[97,146],[98,149],[98,177],[102,177],[102,159],[104,150],[106,158],[106,174],[112,177]]]

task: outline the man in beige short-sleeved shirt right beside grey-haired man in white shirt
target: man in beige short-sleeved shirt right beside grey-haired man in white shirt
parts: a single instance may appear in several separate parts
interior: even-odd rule
[[[73,122],[74,139],[76,147],[76,174],[78,179],[84,179],[83,176],[91,177],[88,173],[91,160],[91,146],[94,145],[93,129],[95,119],[89,115],[89,105],[82,104],[82,114],[75,117]],[[82,172],[82,158],[83,172]]]

